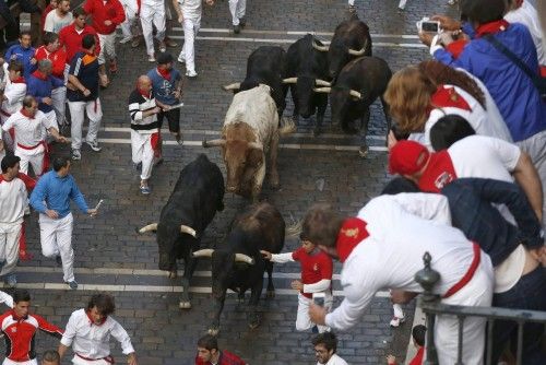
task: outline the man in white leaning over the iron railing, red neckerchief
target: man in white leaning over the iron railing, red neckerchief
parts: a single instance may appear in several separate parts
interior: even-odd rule
[[[343,219],[329,205],[316,205],[306,214],[302,234],[343,262],[341,283],[345,298],[330,314],[311,305],[316,323],[346,330],[357,325],[376,293],[385,287],[420,293],[415,273],[429,252],[431,267],[441,275],[434,293],[452,305],[490,306],[491,261],[479,246],[453,227],[405,212],[391,197],[372,199],[357,217]],[[463,325],[463,362],[480,364],[485,350],[485,319],[466,318]],[[438,316],[435,341],[440,364],[458,358],[459,321]]]

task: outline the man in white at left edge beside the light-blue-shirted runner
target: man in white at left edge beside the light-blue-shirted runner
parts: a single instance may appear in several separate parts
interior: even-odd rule
[[[0,275],[9,286],[15,286],[23,216],[28,207],[27,190],[36,181],[19,172],[20,157],[9,155],[2,158],[0,175]]]

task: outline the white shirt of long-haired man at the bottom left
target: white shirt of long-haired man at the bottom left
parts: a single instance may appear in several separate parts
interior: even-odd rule
[[[78,309],[70,316],[61,343],[67,348],[72,345],[72,350],[84,357],[98,360],[110,354],[110,335],[121,343],[123,354],[134,352],[129,334],[114,318],[108,316],[103,325],[97,326],[85,309]]]

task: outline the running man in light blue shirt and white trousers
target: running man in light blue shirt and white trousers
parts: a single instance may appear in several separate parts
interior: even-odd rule
[[[70,160],[57,157],[54,169],[45,174],[31,195],[31,205],[39,212],[39,235],[41,254],[56,257],[62,264],[63,280],[70,289],[76,290],[74,280],[74,250],[72,249],[72,223],[70,200],[90,216],[95,216],[96,209],[90,209],[70,173]]]

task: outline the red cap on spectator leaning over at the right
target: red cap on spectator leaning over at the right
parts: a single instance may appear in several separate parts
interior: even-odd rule
[[[389,172],[413,175],[425,166],[429,156],[430,153],[423,144],[415,141],[400,141],[389,154]]]

